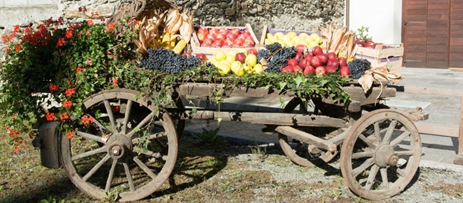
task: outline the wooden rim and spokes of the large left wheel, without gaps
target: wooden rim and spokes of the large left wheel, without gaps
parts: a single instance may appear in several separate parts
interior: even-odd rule
[[[149,109],[152,113],[155,109],[155,106],[152,106],[152,101],[148,98],[135,99],[139,96],[140,93],[134,90],[112,89],[108,91],[99,92],[97,94],[92,95],[88,99],[85,99],[83,101],[83,106],[85,106],[86,109],[90,109],[93,105],[101,104],[103,102],[104,106],[108,107],[107,103],[109,102],[106,101],[110,101],[111,99],[125,99],[127,100],[127,103],[130,102],[132,105],[139,104],[140,106]],[[130,115],[130,110],[127,109],[125,112],[129,112]],[[113,113],[108,113],[107,111],[106,114],[109,115]],[[137,134],[135,128],[132,128],[130,131],[128,130],[128,128],[125,128],[125,133],[114,133],[115,131],[113,131],[111,132],[113,134],[109,136],[108,140],[106,140],[108,143],[100,142],[100,144],[98,145],[99,148],[97,147],[95,150],[85,150],[85,152],[83,153],[76,154],[71,153],[71,148],[73,146],[71,146],[70,139],[68,139],[66,136],[63,136],[61,139],[60,158],[61,163],[63,163],[63,168],[66,170],[66,173],[68,174],[68,177],[71,179],[71,181],[80,190],[82,190],[86,194],[89,194],[92,197],[102,199],[103,197],[108,195],[108,192],[114,192],[115,194],[117,194],[116,198],[120,198],[118,200],[121,202],[142,199],[158,190],[165,182],[165,180],[167,180],[167,178],[170,176],[175,166],[175,162],[177,160],[177,132],[173,124],[172,118],[169,114],[167,114],[167,111],[161,111],[157,114],[157,116],[150,117],[152,117],[152,119],[157,120],[157,127],[162,129],[163,131],[152,134],[148,140],[150,141],[150,143],[153,143],[153,141],[157,141],[158,143],[164,144],[162,146],[159,146],[159,148],[161,148],[162,150],[160,150],[159,152],[152,151],[152,154],[150,155],[146,155],[146,153],[151,153],[151,151],[149,151],[149,149],[151,148],[148,148],[147,151],[144,151],[142,153],[140,153],[140,150],[137,153],[135,153],[134,150],[136,147],[133,147],[132,144],[141,142],[140,138],[133,136]],[[110,116],[108,116],[108,118],[110,118]],[[124,120],[129,119],[130,116],[128,116],[127,119],[124,118]],[[145,117],[145,119],[147,119],[147,117]],[[147,120],[149,121],[150,118],[148,118]],[[97,121],[98,119],[94,119],[92,124],[98,125]],[[110,121],[109,123],[111,124],[111,126],[113,126],[113,121]],[[125,121],[123,121],[123,123],[123,126],[128,126],[127,123],[125,123]],[[140,121],[140,123],[143,123],[143,121]],[[78,136],[81,136],[85,138],[85,141],[88,140],[90,142],[93,138],[95,140],[102,139],[101,137],[97,138],[93,136],[88,136],[87,134],[85,134],[85,132],[82,132],[76,131],[76,138],[78,138]],[[132,136],[129,136],[130,134]],[[124,136],[131,138],[124,138]],[[113,140],[111,140],[112,138]],[[109,144],[109,141],[111,141],[111,144]],[[118,144],[120,143],[126,143],[126,145],[124,146],[127,146],[127,148],[125,148],[125,150],[120,150],[120,152],[125,152],[124,155],[127,155],[126,157],[124,156],[122,158],[119,158],[117,155],[111,153],[113,148],[110,147],[118,146]],[[87,171],[80,170],[79,168],[80,163],[78,163],[78,160],[81,157],[85,156],[85,153],[89,152],[91,152],[92,154],[88,156],[90,158],[91,156],[101,157],[104,155],[103,159],[99,160],[98,163],[93,165],[93,168],[98,168],[98,170],[94,172],[91,172],[93,169]],[[72,160],[73,158],[75,160]],[[148,162],[144,163],[144,160],[146,159],[154,163],[160,162],[159,167],[155,168],[157,170],[150,168],[152,167],[152,165],[148,164]],[[103,166],[100,165],[100,163],[103,161],[104,163],[109,163],[109,171],[101,169]],[[116,170],[117,168],[118,170]],[[137,170],[137,172],[133,173],[133,170]],[[107,177],[105,184],[101,184],[102,182],[95,183],[93,182],[94,180],[92,180],[93,177],[98,176],[97,174],[100,172],[104,173],[102,177]],[[118,180],[119,182],[115,182],[115,175],[118,175],[116,177],[123,177],[123,175],[125,175],[125,180],[121,178],[123,181]],[[117,188],[114,189],[115,187]],[[124,187],[127,190],[124,190]]]

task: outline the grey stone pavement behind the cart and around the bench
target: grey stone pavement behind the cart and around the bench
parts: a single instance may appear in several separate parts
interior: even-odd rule
[[[426,69],[405,67],[402,69],[402,79],[395,85],[407,87],[426,86],[443,89],[462,89],[463,91],[463,72],[452,72],[447,69]],[[289,101],[288,98],[284,101]],[[204,102],[204,101],[197,101]],[[247,98],[232,97],[226,99],[226,104],[222,109],[264,109],[279,108],[281,101],[279,98]],[[429,119],[425,124],[439,124],[442,126],[459,126],[459,97],[444,97],[430,94],[410,94],[397,92],[396,97],[385,101],[385,104],[398,109],[415,109],[420,106],[423,112],[429,114]],[[203,105],[201,105],[203,106]],[[276,133],[266,134],[261,131],[264,125],[247,124],[244,122],[222,122],[220,124],[220,134],[232,138],[239,138],[264,146],[279,147],[278,136]],[[190,121],[186,126],[187,132],[199,133],[202,128],[206,128],[206,121]],[[209,128],[216,128],[217,122],[211,121]],[[454,165],[454,157],[458,150],[458,138],[445,136],[435,136],[421,134],[422,138],[422,161],[423,167],[443,168],[463,172],[463,165]]]

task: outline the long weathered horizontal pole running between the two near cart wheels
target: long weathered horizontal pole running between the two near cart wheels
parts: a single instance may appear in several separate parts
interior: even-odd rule
[[[322,115],[304,115],[271,112],[241,112],[241,111],[213,111],[198,110],[174,112],[174,119],[222,119],[222,121],[243,121],[251,124],[266,124],[276,126],[321,126],[321,127],[348,127],[348,121]],[[180,116],[180,118],[179,118]]]

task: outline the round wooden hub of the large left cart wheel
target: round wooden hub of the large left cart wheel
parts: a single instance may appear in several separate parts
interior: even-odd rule
[[[132,141],[123,134],[115,134],[108,139],[108,154],[113,159],[123,158],[132,151]]]

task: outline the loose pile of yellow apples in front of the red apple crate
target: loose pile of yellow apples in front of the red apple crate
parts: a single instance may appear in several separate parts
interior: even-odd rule
[[[236,76],[243,76],[244,74],[260,74],[264,72],[264,67],[257,62],[257,50],[251,48],[242,51],[222,51],[219,50],[214,53],[213,57],[209,59],[220,74],[228,75],[233,73]]]

